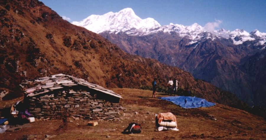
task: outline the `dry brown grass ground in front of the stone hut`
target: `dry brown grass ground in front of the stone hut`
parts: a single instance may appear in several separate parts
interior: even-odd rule
[[[261,117],[221,104],[198,109],[183,109],[171,102],[151,98],[152,91],[139,89],[112,89],[121,94],[121,121],[98,121],[98,126],[87,126],[87,120],[37,120],[30,127],[0,134],[1,139],[21,139],[33,134],[43,139],[266,139],[266,123]],[[166,96],[159,93],[157,96]],[[1,102],[1,106],[2,106]],[[134,114],[137,112],[137,114]],[[172,112],[178,120],[179,131],[155,132],[155,114]],[[217,121],[211,120],[213,115]],[[121,134],[130,122],[142,124],[140,134]],[[111,136],[107,138],[106,136]]]

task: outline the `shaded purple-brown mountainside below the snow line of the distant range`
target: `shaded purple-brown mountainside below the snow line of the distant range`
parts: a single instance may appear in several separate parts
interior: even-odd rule
[[[207,32],[201,34],[202,39],[197,43],[191,43],[191,39],[175,32],[142,36],[128,35],[127,32],[110,34],[108,31],[100,34],[130,54],[180,67],[191,72],[196,79],[233,92],[250,105],[266,105],[266,84],[260,80],[265,75],[261,70],[265,55],[256,54],[265,45],[257,44],[258,40],[234,45],[231,39],[212,39]],[[261,57],[259,61],[257,57]],[[257,71],[259,73],[255,74]]]

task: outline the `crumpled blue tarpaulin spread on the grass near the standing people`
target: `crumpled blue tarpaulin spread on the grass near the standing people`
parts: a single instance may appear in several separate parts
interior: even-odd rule
[[[215,103],[208,102],[205,99],[190,97],[190,96],[169,96],[169,97],[159,97],[159,99],[171,101],[174,104],[179,105],[185,109],[209,107],[215,105]]]

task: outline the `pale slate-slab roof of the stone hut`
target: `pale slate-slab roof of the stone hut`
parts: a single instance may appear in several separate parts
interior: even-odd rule
[[[34,80],[27,80],[26,82],[22,83],[20,86],[24,88],[24,87],[27,87],[28,85],[32,85],[36,83],[38,84],[37,86],[25,89],[24,93],[27,94],[27,96],[36,96],[39,94],[44,94],[44,93],[53,91],[55,89],[65,89],[71,86],[82,85],[82,86],[86,86],[89,89],[94,89],[104,94],[109,94],[111,96],[115,96],[115,97],[123,99],[121,95],[116,94],[115,92],[111,90],[105,89],[102,86],[92,84],[92,83],[87,82],[84,79],[79,79],[74,76],[65,75],[65,74],[56,74],[50,77],[42,77],[42,78],[37,78]]]

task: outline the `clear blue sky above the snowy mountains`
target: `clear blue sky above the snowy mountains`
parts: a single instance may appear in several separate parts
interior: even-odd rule
[[[218,29],[230,31],[258,29],[266,32],[266,0],[40,0],[72,21],[91,14],[103,15],[130,7],[142,19],[154,18],[161,25],[198,23],[221,20]]]

